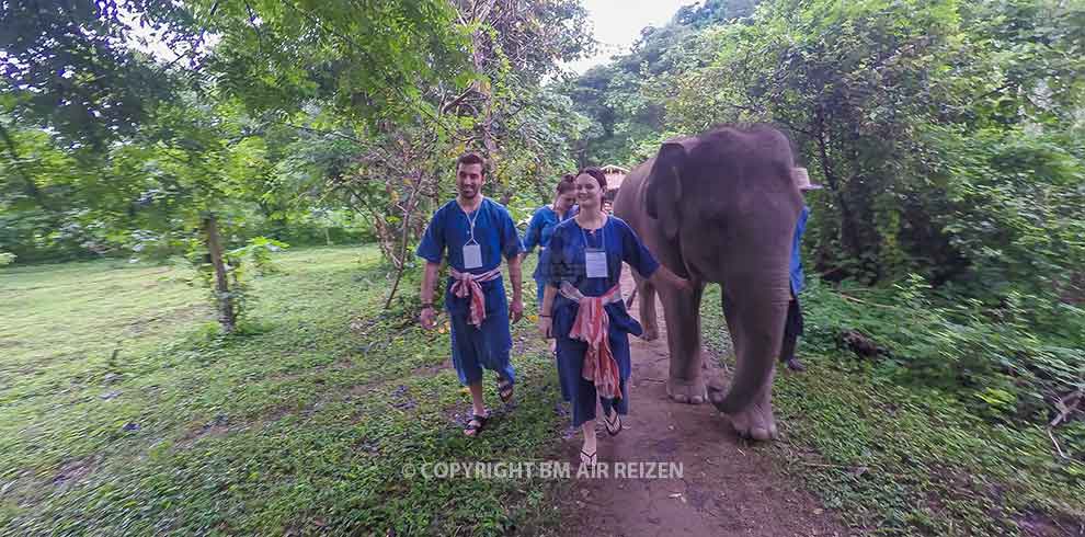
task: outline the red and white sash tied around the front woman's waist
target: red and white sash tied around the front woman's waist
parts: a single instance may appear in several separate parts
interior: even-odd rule
[[[610,340],[607,338],[610,320],[605,309],[607,304],[621,300],[620,286],[610,287],[603,296],[585,297],[580,289],[566,282],[561,284],[561,294],[580,305],[569,338],[587,343],[581,376],[595,385],[601,397],[621,399],[621,375],[610,351]]]

